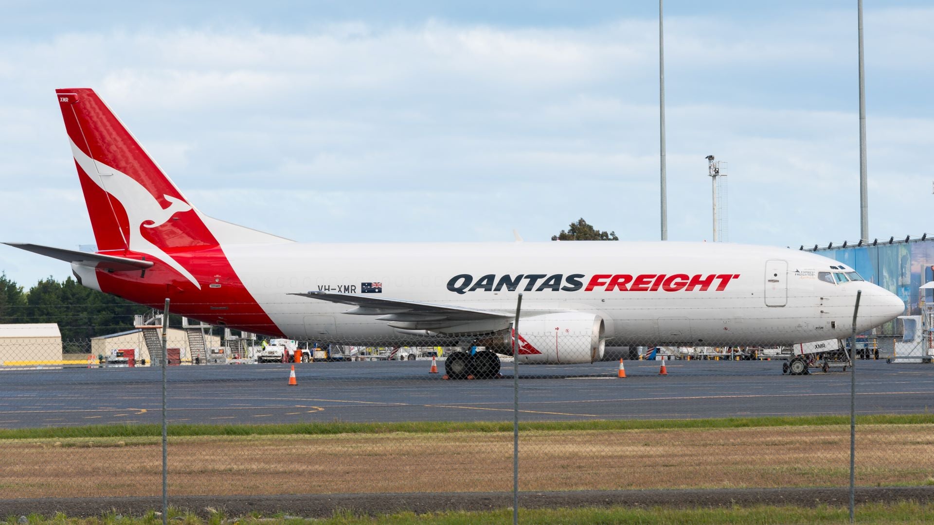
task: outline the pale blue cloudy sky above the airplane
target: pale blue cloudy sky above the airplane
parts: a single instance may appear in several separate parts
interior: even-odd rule
[[[190,5],[192,4],[192,5]],[[772,5],[774,4],[774,5]],[[0,241],[93,244],[55,88],[302,242],[658,240],[658,3],[0,0]],[[668,238],[859,238],[856,1],[665,3]],[[934,234],[934,7],[864,4],[870,238]],[[67,263],[0,246],[28,288]]]

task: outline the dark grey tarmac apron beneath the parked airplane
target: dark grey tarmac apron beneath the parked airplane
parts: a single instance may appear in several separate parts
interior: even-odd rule
[[[695,419],[849,413],[850,372],[782,375],[782,362],[669,361],[522,365],[520,419]],[[444,380],[430,362],[171,366],[170,423],[502,421],[513,419],[512,362],[499,379]],[[158,423],[161,370],[0,369],[0,429]],[[856,362],[858,414],[917,414],[934,399],[934,366]]]

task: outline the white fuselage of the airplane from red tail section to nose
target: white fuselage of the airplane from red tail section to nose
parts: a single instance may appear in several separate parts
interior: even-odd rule
[[[365,283],[381,285],[377,297],[504,313],[515,312],[522,292],[523,318],[592,313],[604,319],[608,345],[781,345],[846,337],[857,291],[862,298],[856,332],[904,309],[896,295],[869,282],[818,280],[818,270],[832,271],[841,263],[788,248],[517,242],[294,243],[224,250],[262,309],[295,339],[400,337],[398,327],[385,320],[344,313],[352,306],[290,295],[360,294]],[[689,278],[697,281],[693,287]],[[369,292],[374,293],[372,287]]]

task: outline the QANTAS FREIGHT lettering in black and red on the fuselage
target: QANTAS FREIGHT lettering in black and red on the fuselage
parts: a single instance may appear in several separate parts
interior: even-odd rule
[[[468,291],[724,291],[729,281],[739,274],[595,274],[587,279],[584,274],[495,274],[478,277],[460,274],[447,281],[447,290],[460,294]],[[587,279],[587,285],[584,281]],[[523,281],[524,286],[523,286]],[[537,286],[536,286],[537,285]]]

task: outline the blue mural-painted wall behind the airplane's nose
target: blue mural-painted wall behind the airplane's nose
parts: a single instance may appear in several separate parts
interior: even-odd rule
[[[908,310],[904,315],[921,315],[921,285],[934,280],[934,239],[879,243],[877,246],[819,248],[815,253],[854,268],[864,279],[897,294]],[[926,291],[925,302],[934,302]],[[897,334],[896,322],[887,323],[882,333]]]

